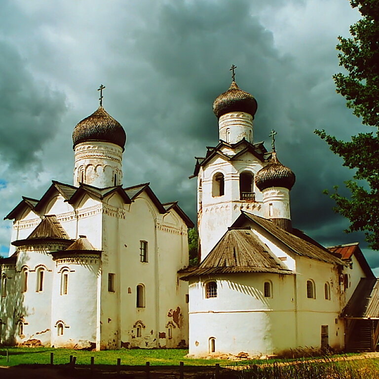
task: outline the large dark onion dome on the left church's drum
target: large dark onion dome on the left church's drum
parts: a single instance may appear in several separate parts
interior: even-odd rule
[[[87,141],[111,142],[124,149],[126,134],[121,124],[100,106],[74,128],[73,148],[80,142]]]

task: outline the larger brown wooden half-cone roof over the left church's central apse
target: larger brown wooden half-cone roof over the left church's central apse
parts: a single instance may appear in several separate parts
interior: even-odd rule
[[[62,227],[61,223],[57,220],[55,215],[45,216],[38,226],[29,234],[26,239],[19,239],[12,242],[14,246],[29,245],[36,241],[60,241],[71,242],[66,230]]]

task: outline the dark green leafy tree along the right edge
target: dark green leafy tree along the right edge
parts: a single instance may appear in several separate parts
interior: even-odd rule
[[[364,231],[369,246],[379,250],[379,0],[350,0],[350,4],[358,7],[362,18],[350,27],[350,38],[338,38],[340,66],[347,74],[333,78],[347,107],[362,118],[364,125],[376,129],[352,136],[348,142],[324,130],[315,133],[343,158],[344,166],[356,170],[353,179],[345,182],[349,197],[334,187],[334,211],[350,220],[346,232]],[[366,183],[358,182],[362,180]]]

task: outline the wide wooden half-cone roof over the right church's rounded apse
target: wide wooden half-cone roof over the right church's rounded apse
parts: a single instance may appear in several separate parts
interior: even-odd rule
[[[204,261],[182,279],[237,272],[293,274],[250,228],[229,228]]]

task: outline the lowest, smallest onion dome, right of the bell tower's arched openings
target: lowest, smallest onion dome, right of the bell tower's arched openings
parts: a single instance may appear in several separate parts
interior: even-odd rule
[[[270,187],[291,189],[294,184],[295,174],[279,162],[276,152],[272,152],[268,164],[259,170],[255,176],[255,185],[261,191]]]

